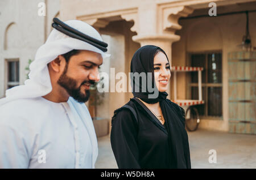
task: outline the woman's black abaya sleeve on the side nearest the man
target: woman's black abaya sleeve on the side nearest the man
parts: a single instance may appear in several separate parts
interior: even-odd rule
[[[112,119],[110,141],[118,168],[141,168],[137,144],[138,125],[130,110],[122,109]]]

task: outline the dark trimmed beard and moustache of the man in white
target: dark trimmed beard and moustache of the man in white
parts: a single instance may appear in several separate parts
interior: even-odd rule
[[[81,86],[84,85],[85,83],[94,84],[94,81],[92,80],[84,81],[81,83],[81,85],[78,88],[76,88],[77,82],[75,79],[67,76],[67,69],[68,69],[68,64],[65,66],[65,69],[61,74],[57,83],[61,85],[61,87],[65,88],[69,96],[73,97],[76,101],[80,103],[84,103],[88,101],[90,96],[90,91],[88,89],[88,90],[85,90],[84,94],[81,93]]]

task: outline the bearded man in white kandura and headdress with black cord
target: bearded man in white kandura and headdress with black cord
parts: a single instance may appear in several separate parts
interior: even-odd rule
[[[97,138],[84,102],[108,44],[84,22],[53,22],[29,79],[0,100],[0,168],[94,168]]]

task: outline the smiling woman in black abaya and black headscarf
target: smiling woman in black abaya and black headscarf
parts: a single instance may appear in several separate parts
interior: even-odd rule
[[[166,98],[166,53],[153,45],[139,48],[131,59],[134,72],[152,76],[146,75],[146,86],[131,76],[134,97],[114,112],[110,140],[118,168],[191,168],[184,109]]]

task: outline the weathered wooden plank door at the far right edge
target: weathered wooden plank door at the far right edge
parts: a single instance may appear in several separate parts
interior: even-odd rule
[[[256,52],[228,54],[229,132],[256,134]]]

